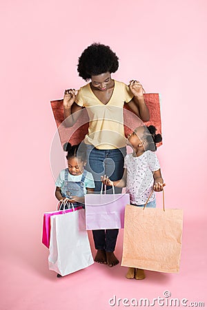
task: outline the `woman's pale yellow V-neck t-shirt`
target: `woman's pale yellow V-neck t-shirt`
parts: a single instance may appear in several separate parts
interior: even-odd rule
[[[133,97],[130,88],[115,81],[112,96],[106,105],[92,92],[90,83],[80,88],[75,102],[86,107],[90,119],[84,142],[97,149],[117,149],[126,145],[124,136],[124,103]]]

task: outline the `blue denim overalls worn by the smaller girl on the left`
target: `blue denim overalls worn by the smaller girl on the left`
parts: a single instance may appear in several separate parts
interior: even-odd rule
[[[79,182],[74,182],[68,180],[68,169],[65,169],[65,180],[64,185],[61,187],[61,194],[63,197],[70,198],[71,196],[77,196],[77,197],[83,197],[85,195],[84,193],[84,180],[86,178],[87,171],[83,170],[83,174],[81,176],[81,180]],[[65,209],[68,209],[69,203],[66,203]],[[72,203],[74,207],[85,207],[83,203]],[[69,208],[72,207],[70,205]],[[63,206],[61,206],[61,209],[63,209]]]

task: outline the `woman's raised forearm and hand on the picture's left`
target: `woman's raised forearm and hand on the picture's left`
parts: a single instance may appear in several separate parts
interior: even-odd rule
[[[80,116],[81,110],[83,109],[83,107],[80,107],[77,103],[75,103],[75,92],[76,90],[74,89],[66,90],[63,97],[64,124],[66,127],[72,127],[76,123]]]

